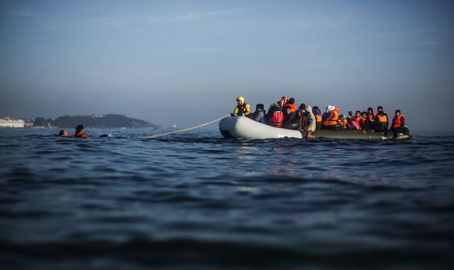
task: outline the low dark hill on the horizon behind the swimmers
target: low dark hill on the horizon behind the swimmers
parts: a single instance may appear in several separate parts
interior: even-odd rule
[[[150,127],[157,129],[160,127],[155,124],[150,124],[148,123],[148,121],[126,117],[126,115],[123,114],[91,114],[76,116],[65,115],[63,117],[58,117],[55,120],[37,117],[33,126],[58,126],[61,128],[74,128],[79,124],[91,128]]]

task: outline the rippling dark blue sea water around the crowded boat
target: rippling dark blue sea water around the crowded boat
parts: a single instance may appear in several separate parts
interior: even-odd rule
[[[452,269],[454,132],[0,129],[2,269]]]

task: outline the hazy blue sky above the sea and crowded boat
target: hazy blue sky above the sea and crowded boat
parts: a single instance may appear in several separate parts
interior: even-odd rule
[[[282,96],[453,130],[454,2],[1,1],[0,116],[193,126]]]

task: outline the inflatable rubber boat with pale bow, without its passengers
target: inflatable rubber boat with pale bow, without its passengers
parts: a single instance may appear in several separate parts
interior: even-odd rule
[[[219,122],[219,131],[226,139],[279,139],[298,138],[302,139],[300,131],[294,129],[282,129],[262,124],[248,117],[226,117]],[[386,133],[358,130],[328,130],[321,129],[314,131],[316,138],[326,139],[355,139],[355,140],[376,140],[384,141],[392,139],[392,131]],[[399,134],[398,140],[410,138],[410,130],[406,127],[404,132]]]

